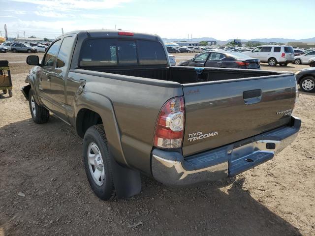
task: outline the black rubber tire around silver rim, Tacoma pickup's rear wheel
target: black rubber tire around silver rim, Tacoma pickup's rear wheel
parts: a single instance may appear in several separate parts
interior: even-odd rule
[[[101,185],[95,182],[88,161],[88,149],[92,143],[97,145],[103,161],[105,178]],[[92,190],[98,198],[104,201],[112,201],[116,197],[111,160],[103,125],[98,124],[91,126],[85,132],[83,138],[83,163]]]

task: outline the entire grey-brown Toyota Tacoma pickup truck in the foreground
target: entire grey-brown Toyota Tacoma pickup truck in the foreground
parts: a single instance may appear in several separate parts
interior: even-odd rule
[[[238,175],[272,159],[301,126],[291,115],[293,73],[170,66],[156,34],[73,31],[27,63],[32,120],[45,123],[51,111],[74,127],[103,200],[138,194],[140,173],[171,186]]]

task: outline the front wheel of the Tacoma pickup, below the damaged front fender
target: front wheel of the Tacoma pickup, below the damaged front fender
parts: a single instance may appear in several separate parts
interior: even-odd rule
[[[32,119],[37,124],[46,123],[49,119],[49,111],[46,108],[39,106],[37,104],[33,94],[34,93],[31,89],[29,92],[29,106],[30,106]],[[33,108],[32,108],[32,102],[34,105]]]

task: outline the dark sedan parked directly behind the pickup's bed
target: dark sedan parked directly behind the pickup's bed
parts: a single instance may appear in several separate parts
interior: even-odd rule
[[[179,66],[219,67],[239,69],[260,69],[259,59],[253,59],[238,52],[205,52],[195,58],[182,61]]]

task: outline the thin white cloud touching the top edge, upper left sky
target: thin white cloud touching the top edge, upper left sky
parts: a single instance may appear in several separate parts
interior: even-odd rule
[[[71,9],[109,9],[122,7],[123,3],[132,0],[13,0],[16,2],[32,3],[48,9],[71,10]]]

